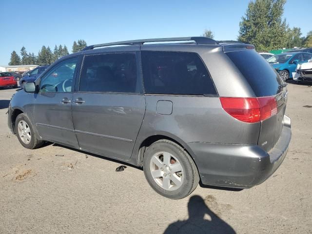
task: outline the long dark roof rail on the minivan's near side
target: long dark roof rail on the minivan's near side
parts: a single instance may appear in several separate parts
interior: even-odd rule
[[[139,40],[124,40],[96,45],[89,45],[83,49],[84,50],[93,50],[97,47],[111,46],[111,45],[143,45],[146,42],[166,42],[166,41],[187,41],[194,40],[197,44],[200,45],[218,45],[219,42],[206,37],[186,37],[186,38],[155,38],[155,39],[139,39]]]

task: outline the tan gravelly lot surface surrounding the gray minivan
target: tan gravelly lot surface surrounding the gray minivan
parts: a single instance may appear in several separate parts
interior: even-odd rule
[[[139,168],[46,144],[24,149],[0,90],[0,233],[312,233],[312,87],[289,84],[292,141],[280,168],[241,191],[198,186],[170,200]],[[304,107],[307,106],[307,107]]]

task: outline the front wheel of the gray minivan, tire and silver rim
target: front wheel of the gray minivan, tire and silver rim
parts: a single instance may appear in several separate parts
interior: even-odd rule
[[[43,141],[36,136],[34,128],[25,114],[20,114],[16,118],[15,133],[20,144],[27,149],[36,149],[43,144]]]

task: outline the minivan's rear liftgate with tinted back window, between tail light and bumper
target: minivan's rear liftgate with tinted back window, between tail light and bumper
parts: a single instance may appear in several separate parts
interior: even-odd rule
[[[254,91],[256,98],[273,97],[277,113],[261,121],[258,145],[271,150],[278,141],[287,103],[287,88],[275,69],[254,49],[241,49],[226,52]]]

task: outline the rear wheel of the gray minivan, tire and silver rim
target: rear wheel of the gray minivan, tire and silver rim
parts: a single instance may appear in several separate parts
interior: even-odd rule
[[[150,186],[158,194],[170,199],[190,195],[199,182],[191,156],[170,140],[158,140],[148,147],[144,153],[143,170]]]

